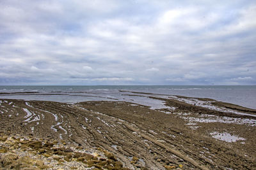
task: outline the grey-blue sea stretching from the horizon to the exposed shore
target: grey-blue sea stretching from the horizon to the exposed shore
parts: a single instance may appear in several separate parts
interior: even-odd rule
[[[121,90],[121,91],[120,91]],[[124,92],[124,91],[130,92]],[[26,94],[6,94],[13,92],[36,92]],[[256,109],[256,85],[252,86],[195,86],[195,85],[131,85],[131,86],[0,86],[1,99],[25,99],[36,101],[57,101],[76,103],[81,101],[129,101],[139,104],[159,105],[159,101],[148,97],[127,96],[131,92],[146,92],[186,97],[215,99],[247,108]]]

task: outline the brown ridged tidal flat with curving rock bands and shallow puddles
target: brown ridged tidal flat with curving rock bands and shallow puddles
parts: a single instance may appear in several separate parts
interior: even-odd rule
[[[28,141],[42,138],[42,146],[44,140],[56,141],[60,148],[65,141],[72,152],[79,146],[102,151],[97,160],[111,153],[120,165],[95,165],[98,169],[255,169],[255,110],[210,99],[141,95],[163,101],[166,107],[152,109],[125,101],[68,104],[0,99],[1,134],[7,136],[3,142],[17,135],[31,136],[35,139]],[[1,157],[19,149],[3,146]],[[56,157],[54,151],[51,157]],[[77,159],[74,154],[72,158],[61,164]],[[76,165],[89,168],[88,160],[82,163]]]

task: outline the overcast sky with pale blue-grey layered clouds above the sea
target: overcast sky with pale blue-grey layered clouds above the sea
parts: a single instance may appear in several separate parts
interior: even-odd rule
[[[1,0],[0,85],[256,85],[256,1]]]

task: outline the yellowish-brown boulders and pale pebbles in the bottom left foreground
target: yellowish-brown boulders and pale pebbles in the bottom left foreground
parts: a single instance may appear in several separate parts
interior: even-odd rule
[[[1,133],[0,148],[1,169],[128,169],[102,148],[86,149],[33,135]]]

